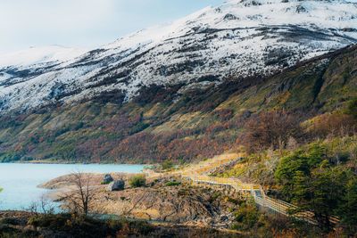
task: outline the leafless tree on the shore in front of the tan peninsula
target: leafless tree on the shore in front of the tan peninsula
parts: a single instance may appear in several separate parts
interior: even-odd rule
[[[61,200],[65,202],[64,206],[75,214],[86,215],[95,199],[95,189],[91,186],[93,176],[76,172],[71,174],[71,184],[73,189],[63,193]]]

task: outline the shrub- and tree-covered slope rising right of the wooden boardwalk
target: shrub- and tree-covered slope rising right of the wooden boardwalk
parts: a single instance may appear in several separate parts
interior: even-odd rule
[[[292,214],[313,212],[321,234],[337,226],[346,236],[356,235],[356,101],[309,119],[286,111],[248,119],[240,142],[251,155],[221,176],[255,180],[270,196],[295,204]],[[337,225],[333,216],[340,219]]]

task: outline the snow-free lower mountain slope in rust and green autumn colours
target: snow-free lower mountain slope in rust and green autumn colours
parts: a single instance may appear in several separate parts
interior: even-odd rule
[[[231,77],[220,85],[145,86],[129,103],[100,94],[2,115],[1,160],[187,161],[237,147],[245,121],[272,109],[312,118],[357,96],[357,48],[301,62],[270,77]]]

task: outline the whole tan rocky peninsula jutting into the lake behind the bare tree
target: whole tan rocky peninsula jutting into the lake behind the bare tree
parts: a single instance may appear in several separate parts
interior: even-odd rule
[[[125,189],[111,192],[107,189],[108,185],[102,184],[104,175],[91,174],[90,186],[95,189],[92,212],[220,229],[229,228],[234,220],[231,210],[237,205],[235,199],[238,198],[232,197],[232,194],[228,198],[223,191],[188,185],[173,176],[148,177],[145,186],[133,188],[129,185],[132,176],[135,175],[112,174],[114,180],[125,181]],[[58,201],[63,191],[73,189],[71,175],[55,178],[40,186],[53,190],[49,197],[54,201]]]

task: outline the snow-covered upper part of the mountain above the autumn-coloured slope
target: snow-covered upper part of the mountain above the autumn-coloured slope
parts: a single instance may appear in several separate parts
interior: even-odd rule
[[[30,59],[0,56],[0,111],[264,76],[355,43],[356,0],[231,0],[83,54],[34,48]]]

